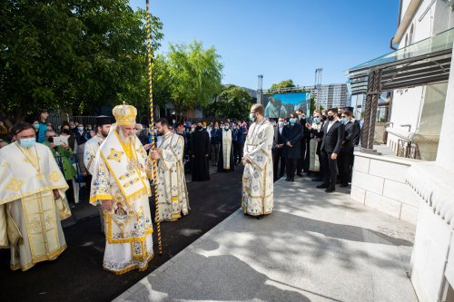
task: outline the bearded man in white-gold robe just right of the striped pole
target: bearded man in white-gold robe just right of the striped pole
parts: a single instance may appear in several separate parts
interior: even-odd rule
[[[163,136],[158,148],[150,152],[150,158],[157,161],[159,219],[174,221],[189,211],[188,191],[183,170],[183,136],[169,130],[169,122],[156,122],[159,135]]]

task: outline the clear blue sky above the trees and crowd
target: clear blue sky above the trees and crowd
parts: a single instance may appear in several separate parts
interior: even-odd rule
[[[345,83],[344,70],[390,52],[399,0],[151,0],[163,47],[202,41],[222,56],[222,83],[257,89],[292,79]],[[131,6],[145,7],[132,0]]]

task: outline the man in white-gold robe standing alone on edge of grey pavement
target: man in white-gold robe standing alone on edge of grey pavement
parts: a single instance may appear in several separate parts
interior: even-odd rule
[[[250,119],[253,123],[246,137],[242,157],[242,210],[258,219],[270,214],[273,205],[271,149],[274,130],[263,114],[262,105],[252,106]]]

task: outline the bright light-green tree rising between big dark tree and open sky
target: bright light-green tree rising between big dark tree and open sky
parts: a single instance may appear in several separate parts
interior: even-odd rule
[[[179,116],[189,110],[202,109],[222,88],[221,56],[212,46],[203,49],[202,43],[170,44],[168,68],[171,95]]]

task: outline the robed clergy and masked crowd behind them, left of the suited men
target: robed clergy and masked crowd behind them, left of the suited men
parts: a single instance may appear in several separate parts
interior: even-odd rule
[[[242,164],[244,213],[258,219],[271,214],[274,130],[262,105],[252,106],[249,130],[244,121],[160,119],[151,133],[136,124],[136,114],[123,104],[113,110],[115,121],[100,116],[94,128],[70,121],[54,130],[43,111],[37,121],[6,130],[0,149],[0,248],[11,249],[13,270],[53,260],[67,248],[61,220],[72,215],[68,189],[79,176],[90,190],[89,202],[101,211],[103,267],[115,274],[143,270],[153,258],[152,189],[156,221],[189,214],[185,163],[194,181],[210,180],[210,164],[220,172]]]

